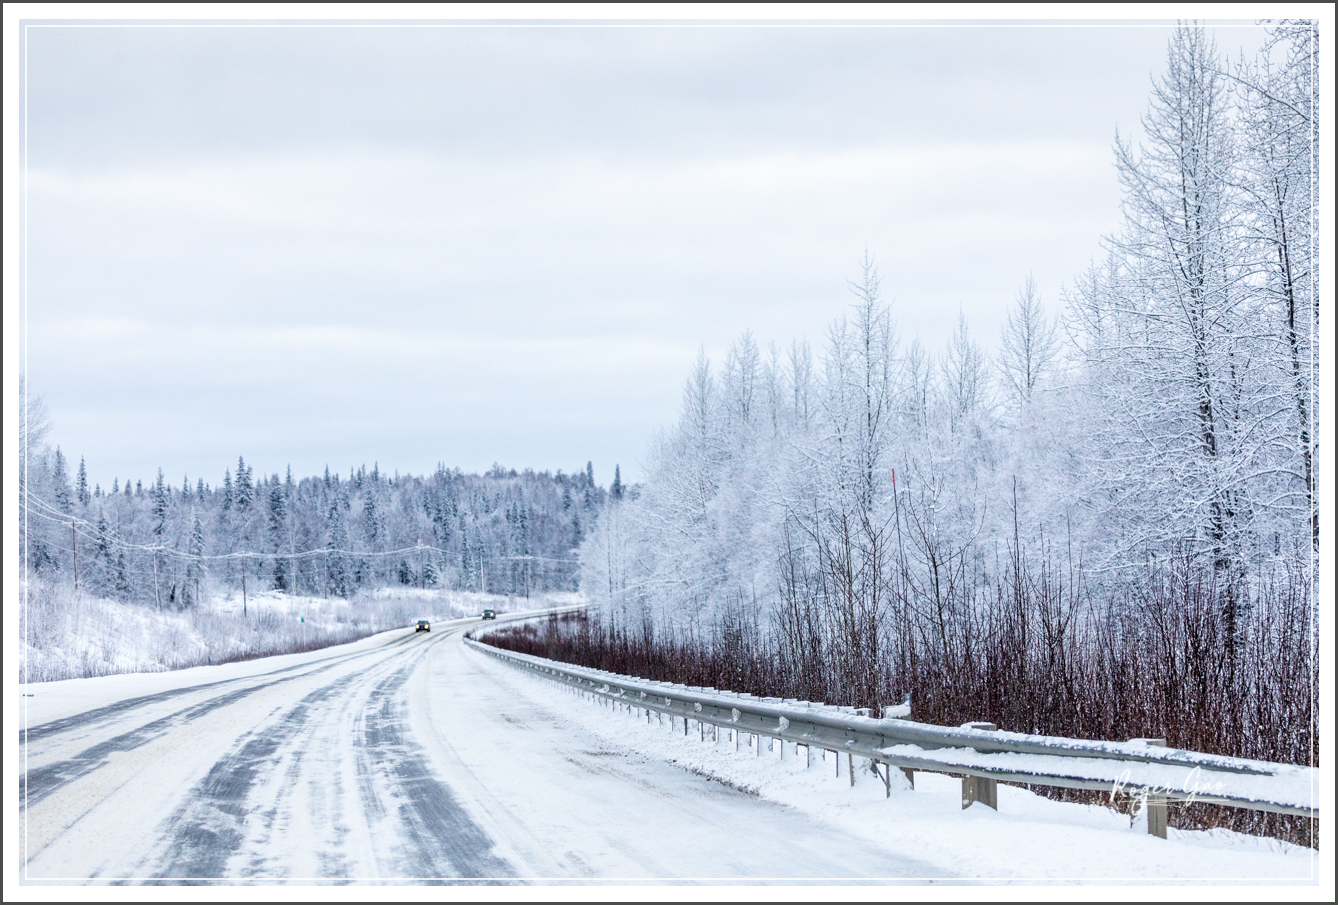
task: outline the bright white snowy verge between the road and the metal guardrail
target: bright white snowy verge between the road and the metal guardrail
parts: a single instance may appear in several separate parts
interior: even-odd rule
[[[959,779],[915,774],[910,787],[892,771],[887,798],[883,780],[860,770],[855,786],[844,756],[814,751],[812,766],[803,747],[740,735],[728,730],[705,742],[696,723],[684,735],[682,720],[657,718],[649,723],[625,707],[582,697],[566,687],[490,657],[499,680],[562,711],[574,730],[589,732],[602,746],[673,763],[764,801],[793,809],[815,825],[859,835],[888,851],[914,854],[941,869],[942,877],[975,877],[1025,882],[1318,882],[1318,853],[1276,839],[1227,830],[1171,829],[1163,841],[1148,835],[1147,823],[1093,805],[1050,801],[1016,786],[998,787],[998,811],[985,805],[961,807]],[[511,673],[511,675],[507,675]],[[737,744],[737,750],[736,750]],[[867,762],[866,762],[867,764]]]

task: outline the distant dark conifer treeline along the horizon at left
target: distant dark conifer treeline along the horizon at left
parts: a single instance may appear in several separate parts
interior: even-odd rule
[[[577,588],[575,549],[610,493],[575,474],[494,466],[427,477],[365,466],[347,477],[254,475],[244,458],[202,478],[88,486],[41,443],[40,403],[23,431],[20,549],[28,568],[90,593],[186,608],[237,589],[349,597],[387,585],[529,596]]]

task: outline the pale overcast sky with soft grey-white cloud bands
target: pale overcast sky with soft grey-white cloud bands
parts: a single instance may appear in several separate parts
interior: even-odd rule
[[[1057,309],[1169,33],[33,27],[29,391],[104,490],[636,479],[698,347],[820,352],[866,248],[930,348]]]

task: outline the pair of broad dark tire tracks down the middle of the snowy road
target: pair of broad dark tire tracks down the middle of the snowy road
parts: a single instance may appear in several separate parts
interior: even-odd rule
[[[435,643],[438,639],[395,652],[371,671],[310,692],[264,734],[240,743],[159,825],[158,833],[170,842],[157,866],[140,876],[187,884],[230,876],[274,877],[273,847],[294,821],[308,821],[325,830],[325,839],[310,839],[318,847],[309,853],[321,874],[352,878],[343,851],[352,834],[344,818],[353,817],[367,823],[380,876],[514,877],[512,868],[492,854],[492,841],[432,775],[424,751],[408,738],[404,685]],[[367,687],[363,699],[359,692]],[[343,707],[330,706],[336,702]],[[360,805],[353,815],[341,813],[340,771],[330,770],[328,759],[309,756],[321,750],[321,730],[337,726],[332,711],[349,710],[360,715],[353,720],[360,730],[353,736],[353,801]],[[276,776],[280,770],[282,775]],[[302,776],[309,778],[305,786]],[[266,785],[273,798],[262,803]],[[297,794],[302,789],[317,794],[302,799]],[[326,810],[317,802],[334,805]],[[238,855],[245,863],[238,863]]]

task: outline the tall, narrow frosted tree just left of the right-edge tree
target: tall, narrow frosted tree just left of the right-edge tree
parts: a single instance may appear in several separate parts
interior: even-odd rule
[[[1204,31],[1179,28],[1145,143],[1116,139],[1124,225],[1111,265],[1070,304],[1100,375],[1088,384],[1094,498],[1121,526],[1108,556],[1127,562],[1184,545],[1222,569],[1239,564],[1267,467],[1259,438],[1271,431],[1256,422],[1274,390],[1256,348],[1224,82]]]

